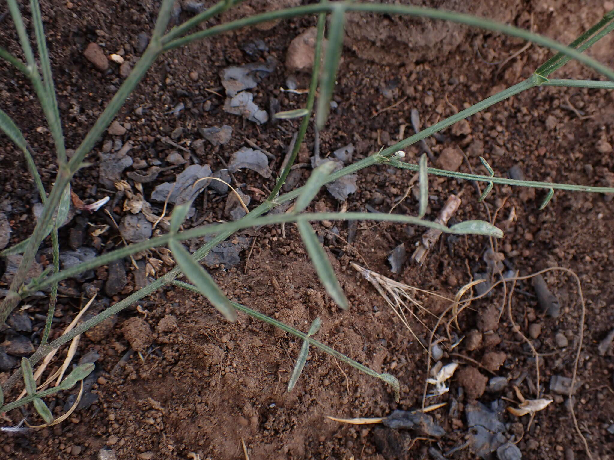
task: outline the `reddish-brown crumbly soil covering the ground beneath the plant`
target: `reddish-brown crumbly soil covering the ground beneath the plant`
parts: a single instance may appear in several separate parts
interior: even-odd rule
[[[533,21],[539,33],[566,42],[613,7],[611,2],[590,1],[576,6],[554,0],[492,2],[499,10],[493,9],[489,2],[480,2],[480,6],[466,1],[424,3],[496,17],[524,28],[529,28]],[[465,7],[467,4],[471,4],[470,7]],[[271,7],[269,2],[263,5]],[[126,58],[134,63],[138,58],[134,51],[136,36],[142,31],[150,33],[157,8],[158,2],[150,1],[43,2],[68,148],[79,145],[122,82],[119,66],[111,63],[106,73],[97,71],[85,60],[85,47],[90,42],[104,43],[107,54],[123,48]],[[0,7],[0,42],[20,55],[10,15],[2,15],[6,9],[6,5]],[[183,15],[188,17],[187,13]],[[499,65],[489,63],[502,61],[519,50],[523,47],[521,41],[464,26],[432,25],[430,21],[389,17],[383,20],[387,21],[385,29],[394,31],[397,36],[392,47],[388,36],[373,33],[381,27],[375,18],[370,19],[362,31],[360,26],[357,28],[360,23],[356,18],[349,20],[348,43],[334,95],[339,107],[332,111],[327,128],[321,133],[323,154],[352,142],[357,148],[355,158],[367,156],[383,144],[394,143],[400,127],[410,123],[411,109],[418,109],[423,126],[432,125],[528,77],[532,69],[549,56],[545,50],[530,47],[500,69]],[[417,23],[421,28],[411,29]],[[270,165],[273,171],[278,171],[297,123],[284,121],[256,127],[223,112],[223,99],[206,89],[218,91],[219,72],[229,65],[263,59],[267,55],[283,63],[290,40],[313,25],[313,18],[282,21],[268,30],[241,30],[163,56],[117,118],[131,123],[131,130],[124,136],[124,140],[130,139],[135,145],[130,155],[134,159],[157,158],[157,138],[168,136],[178,127],[184,128],[184,133],[177,142],[189,147],[190,142],[200,139],[198,128],[227,124],[233,126],[234,131],[231,141],[219,150],[222,158],[228,159],[231,153],[243,147],[244,138],[248,137],[279,157]],[[257,38],[265,41],[269,52],[252,58],[241,51],[241,46]],[[403,51],[405,46],[408,53]],[[612,40],[603,40],[595,47],[593,55],[613,66],[611,50]],[[400,59],[399,53],[410,58]],[[414,56],[420,61],[415,61]],[[370,60],[373,58],[380,63]],[[190,79],[190,72],[198,72],[196,81]],[[559,74],[559,78],[594,77],[586,68],[577,65],[565,67]],[[279,91],[280,86],[286,86],[285,81],[284,67],[280,64],[274,74],[254,90],[255,101],[267,107],[268,100],[274,96],[281,100],[281,110],[300,107],[305,96]],[[211,111],[203,111],[203,99],[211,101]],[[36,163],[49,190],[56,171],[49,133],[37,129],[45,123],[31,86],[22,75],[7,67],[0,72],[0,101],[2,110],[17,122],[37,152]],[[376,115],[398,101],[402,102]],[[178,102],[185,104],[185,110],[175,117],[168,112]],[[464,125],[465,129],[446,130],[445,139],[429,140],[429,145],[435,155],[443,148],[459,145],[476,170],[480,170],[477,157],[482,155],[497,175],[507,174],[511,166],[518,164],[529,180],[585,185],[609,182],[611,186],[614,158],[611,151],[602,147],[604,141],[612,143],[612,102],[611,93],[605,91],[534,89],[475,115]],[[138,107],[145,109],[143,115],[136,115]],[[408,133],[411,134],[411,125],[405,130],[405,136]],[[107,138],[111,136],[105,134],[88,161],[96,161],[102,142]],[[313,139],[310,129],[306,140],[309,151],[313,149]],[[596,145],[598,142],[601,142],[600,147]],[[214,171],[222,167],[209,145],[205,151],[198,158],[201,164],[209,164]],[[192,153],[195,152],[192,150]],[[410,161],[415,161],[420,153],[419,145],[408,149]],[[160,158],[166,155],[168,151],[161,153]],[[0,202],[6,201],[12,206],[8,215],[11,242],[15,243],[28,236],[33,228],[31,207],[37,193],[25,161],[6,137],[0,138],[0,160],[3,165]],[[173,178],[173,171],[161,174],[157,182],[146,184],[146,196],[153,186]],[[301,184],[309,170],[298,171],[302,174]],[[467,163],[462,164],[461,171],[468,171]],[[97,167],[77,172],[73,190],[82,199],[106,196],[107,191],[94,186],[98,182],[97,175]],[[255,189],[266,193],[265,189],[270,190],[274,185],[274,178],[263,181],[254,172],[238,172],[235,176],[246,184],[242,190],[251,197],[251,207],[266,197]],[[370,205],[388,212],[396,199],[405,194],[409,177],[407,172],[386,166],[359,172],[359,188],[348,199],[348,210],[365,210],[366,205]],[[461,208],[454,215],[456,221],[488,218],[483,206],[478,204],[478,195],[471,183],[431,178],[429,193],[435,199],[430,202],[427,218],[436,217],[450,193],[462,193]],[[487,202],[491,212],[503,205],[497,220],[500,225],[513,212],[518,218],[505,230],[499,247],[521,274],[558,265],[569,267],[580,277],[586,299],[586,324],[578,366],[581,386],[574,401],[575,410],[593,459],[611,459],[614,435],[608,434],[605,428],[613,421],[614,359],[612,350],[600,356],[597,344],[614,324],[613,202],[599,194],[558,192],[545,210],[538,211],[542,199],[541,191],[495,187]],[[199,198],[196,218],[204,217],[206,222],[222,220],[224,201],[208,199],[203,203]],[[395,212],[414,214],[417,207],[410,194]],[[324,192],[313,205],[315,210],[339,208],[338,202]],[[122,215],[120,209],[119,205],[115,212]],[[88,219],[95,224],[109,223],[102,211]],[[229,324],[203,297],[170,287],[144,299],[138,311],[131,308],[122,312],[104,325],[106,329],[102,333],[82,337],[79,353],[96,350],[100,355],[96,362],[98,380],[93,386],[93,393],[99,397],[95,404],[74,413],[70,421],[52,429],[22,435],[0,434],[4,450],[0,456],[93,459],[107,446],[114,450],[118,459],[185,459],[189,453],[196,453],[201,459],[237,459],[244,456],[243,439],[252,460],[428,458],[427,449],[433,444],[428,440],[412,443],[411,432],[395,432],[381,425],[351,426],[325,419],[326,415],[379,417],[395,408],[419,407],[427,378],[426,356],[420,344],[349,263],[368,264],[371,270],[400,282],[453,297],[460,286],[470,281],[468,269],[472,272],[484,269],[482,255],[488,241],[483,237],[442,237],[441,244],[433,248],[424,266],[405,264],[402,274],[394,275],[386,261],[390,251],[403,242],[411,253],[422,229],[361,222],[349,247],[345,242],[348,238],[346,224],[336,225],[343,239],[330,236],[322,224],[316,225],[316,229],[324,237],[341,285],[348,294],[351,303],[348,312],[336,309],[324,293],[292,225],[286,225],[285,237],[279,227],[251,231],[249,235],[256,240],[249,260],[249,250],[243,251],[239,266],[212,270],[212,274],[234,301],[302,331],[307,331],[311,321],[319,316],[324,324],[316,338],[377,372],[394,374],[401,383],[399,404],[395,404],[391,389],[384,383],[336,362],[319,350],[311,351],[296,388],[287,393],[300,340],[242,314],[235,324]],[[68,246],[68,234],[68,228],[61,231],[64,248]],[[105,238],[104,250],[109,250],[112,244],[121,245],[114,231],[111,237],[107,234]],[[91,242],[88,240],[86,244]],[[49,241],[45,245],[49,246]],[[130,270],[130,261],[126,261],[126,267]],[[131,292],[134,277],[130,271],[128,273],[128,285],[118,296],[106,299],[105,304],[104,292],[99,294],[98,309]],[[98,270],[96,276],[103,279],[106,270]],[[541,323],[537,339],[538,352],[543,353],[541,384],[546,397],[552,397],[554,402],[537,413],[527,432],[524,430],[528,416],[518,419],[508,414],[506,421],[513,432],[518,432],[516,440],[522,437],[518,447],[523,458],[569,459],[574,453],[575,458],[586,458],[583,442],[573,428],[567,397],[549,393],[548,385],[551,375],[572,375],[580,320],[577,289],[561,272],[547,274],[545,278],[561,299],[559,318],[535,318],[535,312],[539,315],[537,302],[534,297],[521,293],[515,294],[511,308],[525,335],[529,335],[530,323]],[[521,286],[521,290],[525,289],[533,292],[530,284]],[[60,321],[54,326],[54,338],[82,305],[81,288],[76,281],[63,283],[61,293],[64,295],[56,315]],[[435,297],[420,296],[420,299],[437,315],[448,306]],[[459,317],[462,329],[459,334],[480,329],[478,323],[486,320],[477,312],[492,305],[498,307],[502,302],[500,288],[495,289],[492,297],[474,302],[472,309],[465,310]],[[28,313],[46,311],[45,299],[34,299],[30,303],[33,307]],[[130,319],[134,317],[140,320]],[[431,316],[424,316],[424,320],[429,326],[435,323]],[[422,338],[428,337],[427,331],[416,321],[411,324]],[[497,358],[496,365],[501,361],[500,353],[505,353],[504,362],[494,374],[510,380],[526,375],[520,389],[524,396],[533,397],[535,360],[523,348],[518,334],[512,331],[507,315],[502,316],[497,327],[496,332],[502,339],[500,343],[492,339],[492,334],[484,334],[481,342],[472,340],[473,345],[477,343],[475,350],[470,351],[461,344],[456,351],[478,364],[483,362],[485,351],[499,352],[484,363],[489,364]],[[554,336],[558,332],[567,337],[569,347],[557,348]],[[0,332],[0,340],[2,334],[4,332]],[[130,345],[142,350],[141,355],[134,353],[125,365],[118,366]],[[445,355],[444,361],[452,358]],[[461,367],[470,364],[455,359],[461,362]],[[491,369],[497,367],[495,364]],[[492,377],[492,373],[483,368],[471,372]],[[461,375],[467,374],[470,373]],[[0,374],[0,381],[8,375],[7,372]],[[459,388],[454,377],[450,392],[438,401],[456,399],[460,415],[449,415],[448,408],[433,412],[437,423],[448,433],[439,442],[444,452],[464,442],[467,433],[462,408],[468,402],[467,394],[476,393],[476,389],[468,388],[465,396],[459,396]],[[48,401],[56,407],[58,415],[66,396],[60,394],[55,402],[53,398]],[[487,392],[477,397],[489,403],[500,396],[516,399],[511,383],[502,393]],[[7,395],[7,401],[11,401],[11,397],[14,395]],[[31,406],[26,407],[26,413],[33,415]],[[9,416],[14,421],[21,418],[18,411]],[[472,458],[472,455],[464,450],[453,454],[453,458]]]

